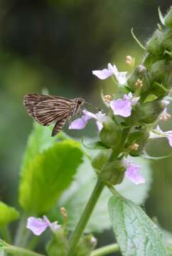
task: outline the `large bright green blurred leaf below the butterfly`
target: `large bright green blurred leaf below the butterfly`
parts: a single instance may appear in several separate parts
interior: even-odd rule
[[[38,144],[37,149],[30,147],[31,154],[23,164],[19,188],[19,203],[30,214],[50,210],[70,186],[77,167],[82,163],[80,144],[72,139],[53,143],[51,147],[49,144],[47,149],[45,145],[48,143]],[[38,153],[43,145],[44,150]]]

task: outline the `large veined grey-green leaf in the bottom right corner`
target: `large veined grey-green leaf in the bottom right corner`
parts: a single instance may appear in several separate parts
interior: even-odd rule
[[[122,255],[168,255],[158,227],[140,206],[112,196],[109,217]]]

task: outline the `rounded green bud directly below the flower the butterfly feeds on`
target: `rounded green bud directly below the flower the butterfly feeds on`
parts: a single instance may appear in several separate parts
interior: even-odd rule
[[[112,119],[107,119],[103,124],[103,128],[100,132],[100,139],[102,143],[107,147],[114,147],[119,144],[122,137],[122,132],[117,124]]]

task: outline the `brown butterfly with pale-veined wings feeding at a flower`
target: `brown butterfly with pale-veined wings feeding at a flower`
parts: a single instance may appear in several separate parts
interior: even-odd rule
[[[84,102],[80,97],[70,100],[65,97],[29,93],[23,99],[23,106],[39,124],[48,126],[55,123],[51,134],[53,137],[60,132],[67,119],[70,122],[71,117],[79,112]]]

